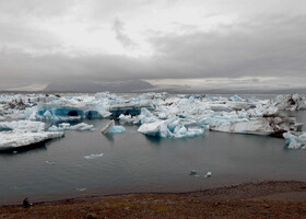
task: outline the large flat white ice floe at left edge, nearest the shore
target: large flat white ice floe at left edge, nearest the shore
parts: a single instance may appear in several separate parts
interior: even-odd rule
[[[63,132],[0,132],[0,150],[10,150],[23,146],[30,146],[33,143],[42,142],[51,138],[63,137]]]

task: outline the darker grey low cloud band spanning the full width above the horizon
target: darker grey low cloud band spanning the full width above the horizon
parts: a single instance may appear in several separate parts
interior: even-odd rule
[[[287,77],[305,80],[305,16],[256,18],[224,33],[156,35],[150,58],[0,51],[1,84],[125,79]],[[120,30],[120,23],[117,28]],[[15,65],[17,64],[17,65]],[[257,79],[256,79],[257,80]],[[257,83],[258,81],[254,81]],[[259,81],[260,82],[260,81]]]

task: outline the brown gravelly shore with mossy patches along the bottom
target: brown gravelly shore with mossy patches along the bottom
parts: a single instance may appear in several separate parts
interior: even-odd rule
[[[227,209],[226,214],[223,210],[220,212],[224,208]],[[180,212],[181,210],[184,212]],[[296,210],[299,210],[297,215],[292,215],[292,211]],[[57,217],[54,218],[71,218],[70,214],[73,215],[72,218],[80,218],[80,216],[91,218],[89,214],[94,216],[92,218],[134,218],[136,216],[140,218],[177,216],[201,218],[202,216],[210,217],[205,214],[216,212],[221,215],[211,215],[211,217],[222,218],[225,216],[247,217],[254,216],[252,214],[262,217],[260,214],[263,211],[276,214],[275,218],[305,216],[306,182],[264,181],[184,193],[94,195],[38,201],[28,209],[22,208],[21,205],[2,205],[0,218],[48,218],[55,212]],[[273,215],[270,217],[273,218]]]

